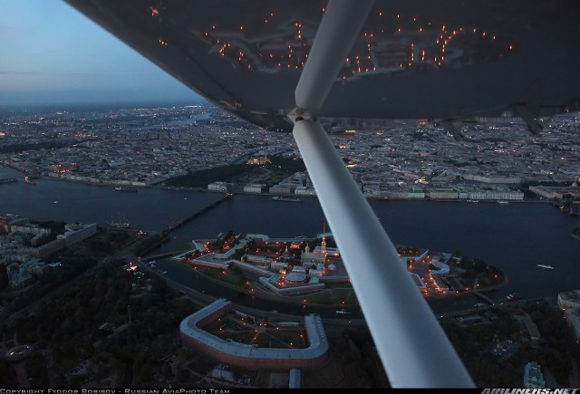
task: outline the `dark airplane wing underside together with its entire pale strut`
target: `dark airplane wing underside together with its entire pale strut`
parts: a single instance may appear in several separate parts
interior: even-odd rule
[[[473,387],[321,120],[515,114],[537,132],[580,108],[580,3],[66,1],[209,101],[292,131],[392,387]]]

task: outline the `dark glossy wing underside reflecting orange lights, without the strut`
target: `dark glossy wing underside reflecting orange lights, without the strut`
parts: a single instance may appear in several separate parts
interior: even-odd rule
[[[325,0],[65,1],[208,100],[292,130],[286,115]],[[368,124],[578,111],[579,8],[377,0],[317,116]]]

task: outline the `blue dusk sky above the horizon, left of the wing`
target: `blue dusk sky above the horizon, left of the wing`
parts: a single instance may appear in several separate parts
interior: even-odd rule
[[[0,105],[198,101],[63,0],[2,0]]]

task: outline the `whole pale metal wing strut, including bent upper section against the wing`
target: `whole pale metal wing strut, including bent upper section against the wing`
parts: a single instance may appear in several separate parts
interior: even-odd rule
[[[467,370],[315,111],[373,5],[330,0],[295,91],[293,135],[393,388],[473,388]]]

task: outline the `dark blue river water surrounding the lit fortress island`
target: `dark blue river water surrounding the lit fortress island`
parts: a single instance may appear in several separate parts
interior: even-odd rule
[[[129,220],[132,228],[145,231],[159,231],[222,197],[209,192],[156,188],[123,193],[111,186],[57,179],[36,179],[33,186],[24,184],[22,174],[9,168],[0,168],[0,178],[18,178],[16,183],[0,184],[0,214],[102,226],[111,218],[121,217]],[[377,199],[370,203],[395,244],[435,252],[459,251],[501,268],[508,282],[492,293],[492,298],[507,293],[526,298],[556,296],[558,292],[580,288],[580,242],[570,235],[580,218],[562,214],[549,204]],[[175,229],[169,242],[156,252],[171,251],[192,239],[214,238],[229,230],[271,237],[314,237],[323,232],[323,224],[324,214],[315,197],[292,203],[273,201],[267,196],[237,195]],[[265,305],[246,295],[200,283],[188,268],[168,259],[160,264],[172,279],[198,289],[203,287],[216,296],[239,297],[233,301],[265,309],[284,309],[276,308],[275,303]],[[546,270],[536,264],[552,265],[555,269]],[[477,302],[472,297],[460,297],[431,306],[439,312]]]

